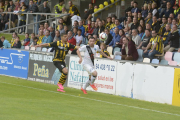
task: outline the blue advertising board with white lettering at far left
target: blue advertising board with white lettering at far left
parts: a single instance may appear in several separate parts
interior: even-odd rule
[[[0,50],[0,74],[27,79],[28,64],[28,51]]]

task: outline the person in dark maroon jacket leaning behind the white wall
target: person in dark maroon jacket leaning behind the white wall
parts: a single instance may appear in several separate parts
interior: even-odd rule
[[[127,37],[123,38],[122,60],[136,61],[139,58],[135,43]]]

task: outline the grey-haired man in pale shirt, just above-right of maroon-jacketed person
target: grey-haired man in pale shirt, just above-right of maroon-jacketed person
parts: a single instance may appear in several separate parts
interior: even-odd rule
[[[140,43],[141,43],[141,38],[140,38],[140,36],[138,35],[137,29],[133,29],[133,30],[132,30],[132,41],[134,41],[134,43],[135,43],[136,46],[139,46]]]

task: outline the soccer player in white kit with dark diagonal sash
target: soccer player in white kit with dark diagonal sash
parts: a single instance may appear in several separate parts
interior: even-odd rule
[[[80,52],[84,52],[84,59],[82,61],[82,57]],[[112,60],[111,57],[108,57],[104,52],[99,49],[98,45],[95,45],[94,37],[89,38],[89,45],[84,45],[79,50],[77,50],[77,54],[79,56],[79,64],[83,64],[83,69],[86,70],[89,74],[89,80],[86,84],[81,88],[84,94],[87,94],[86,88],[90,85],[94,90],[97,91],[97,88],[94,85],[94,81],[97,77],[97,71],[94,69],[94,55],[99,52],[104,57]]]

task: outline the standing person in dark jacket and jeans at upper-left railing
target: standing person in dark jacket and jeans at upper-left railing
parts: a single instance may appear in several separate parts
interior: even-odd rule
[[[28,9],[29,13],[38,13],[39,9],[38,6],[36,4],[33,3],[33,0],[29,1],[29,9]],[[33,14],[33,21],[34,23],[39,21],[39,15],[35,15]],[[39,28],[39,23],[34,24],[34,29],[35,29],[35,33],[38,34],[38,28]]]

